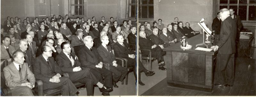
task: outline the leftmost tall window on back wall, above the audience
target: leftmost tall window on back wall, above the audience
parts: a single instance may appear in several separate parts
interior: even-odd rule
[[[73,16],[84,15],[84,0],[70,0],[70,14]]]

